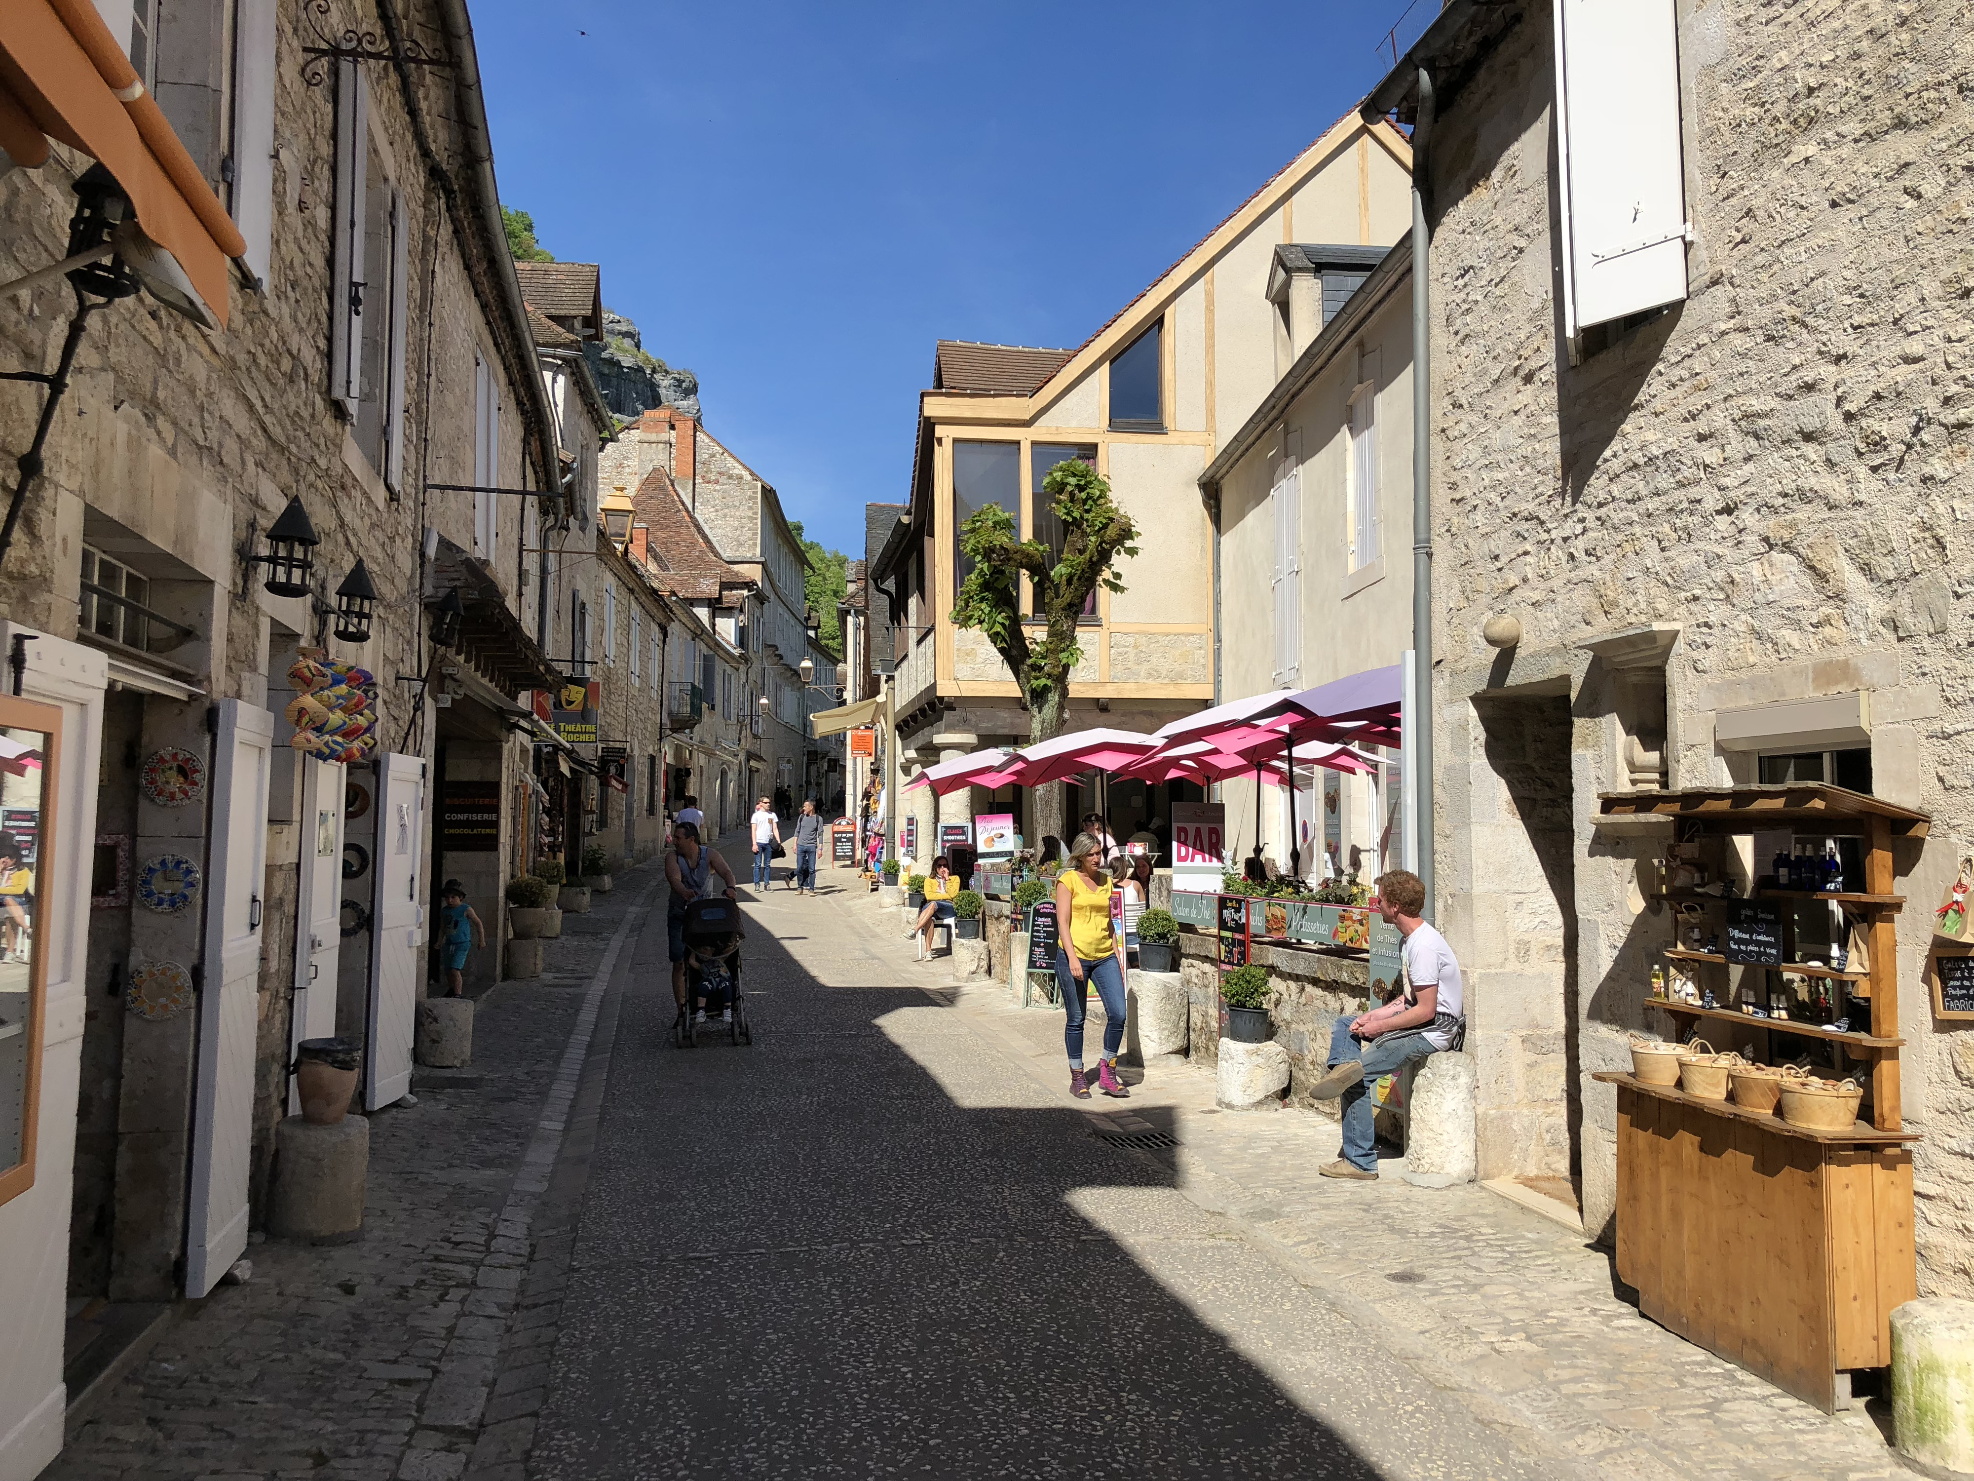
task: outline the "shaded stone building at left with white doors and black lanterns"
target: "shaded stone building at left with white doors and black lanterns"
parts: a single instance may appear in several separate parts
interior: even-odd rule
[[[10,464],[59,395],[0,537],[0,648],[61,723],[39,814],[8,790],[47,910],[43,962],[14,964],[28,1013],[0,1009],[6,1475],[59,1449],[118,1313],[205,1295],[245,1250],[298,1039],[355,1031],[365,1106],[405,1094],[426,891],[466,843],[497,861],[476,898],[494,958],[523,861],[529,742],[499,719],[561,677],[523,561],[559,470],[472,30],[460,0],[363,0],[397,61],[357,61],[306,55],[330,41],[308,16],[0,20],[0,355],[55,373],[77,346],[65,385],[0,391]],[[118,213],[87,322],[61,274],[20,284]],[[148,286],[122,296],[132,263]],[[284,509],[312,531],[270,529]],[[306,569],[268,565],[286,533],[316,537]],[[302,650],[375,675],[361,762],[288,744]],[[434,837],[452,727],[486,756],[472,816]],[[97,1313],[69,1337],[99,1339],[67,1372],[65,1299]]]

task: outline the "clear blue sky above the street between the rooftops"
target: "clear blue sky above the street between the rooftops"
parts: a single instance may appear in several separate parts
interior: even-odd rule
[[[503,201],[853,559],[934,340],[1080,344],[1384,75],[1402,12],[472,6]]]

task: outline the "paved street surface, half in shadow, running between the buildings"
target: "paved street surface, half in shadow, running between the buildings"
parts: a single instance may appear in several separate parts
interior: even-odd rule
[[[1319,1181],[1196,1068],[1070,1102],[863,891],[750,902],[754,1047],[671,1049],[661,904],[569,916],[373,1118],[363,1238],[255,1244],[49,1475],[1903,1475],[1486,1189]]]

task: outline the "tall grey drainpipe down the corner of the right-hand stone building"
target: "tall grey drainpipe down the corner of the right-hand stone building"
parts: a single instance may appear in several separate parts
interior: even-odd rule
[[[1419,723],[1405,737],[1413,768],[1419,883],[1433,918],[1433,332],[1429,284],[1433,231],[1425,223],[1427,148],[1433,134],[1433,75],[1419,67],[1419,113],[1411,126],[1411,648]],[[1216,547],[1218,557],[1218,547]],[[1214,586],[1218,594],[1218,581]]]

